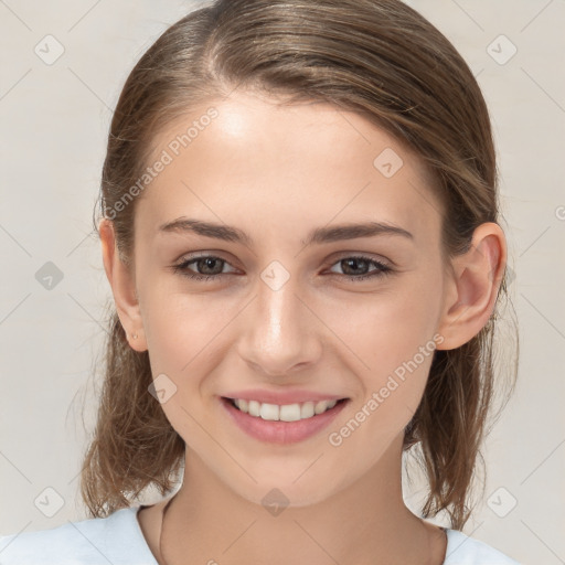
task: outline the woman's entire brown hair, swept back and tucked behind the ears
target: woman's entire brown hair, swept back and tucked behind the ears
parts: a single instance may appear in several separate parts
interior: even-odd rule
[[[126,265],[136,202],[119,202],[143,174],[154,136],[236,87],[356,111],[414,150],[447,211],[446,259],[469,248],[479,224],[498,222],[495,151],[481,90],[451,43],[418,12],[399,0],[217,0],[170,26],[136,64],[119,97],[99,210],[113,221]],[[472,479],[490,430],[494,323],[501,299],[508,299],[508,276],[505,270],[495,311],[481,331],[460,348],[435,351],[422,403],[405,430],[405,450],[420,448],[429,484],[423,516],[447,511],[455,529],[470,515]],[[148,352],[129,347],[113,308],[107,323],[98,419],[81,481],[92,516],[129,507],[147,487],[170,492],[184,456],[184,441],[148,393]],[[507,366],[513,388],[518,355]]]

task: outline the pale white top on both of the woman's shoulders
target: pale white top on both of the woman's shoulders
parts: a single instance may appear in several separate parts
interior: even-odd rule
[[[137,520],[140,507],[0,537],[1,565],[158,565]],[[486,543],[446,529],[444,565],[520,565]]]

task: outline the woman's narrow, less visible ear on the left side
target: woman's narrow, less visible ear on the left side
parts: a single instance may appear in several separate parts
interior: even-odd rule
[[[126,266],[119,257],[113,222],[103,218],[98,225],[98,233],[100,234],[104,269],[111,286],[116,310],[126,331],[128,343],[135,351],[146,351],[147,341],[136,291],[134,269]],[[137,338],[132,338],[134,334],[137,334]]]

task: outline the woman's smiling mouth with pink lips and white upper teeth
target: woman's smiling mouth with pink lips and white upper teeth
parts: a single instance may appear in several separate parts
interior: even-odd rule
[[[269,444],[310,438],[338,416],[351,398],[276,405],[221,396],[231,422],[248,436]]]

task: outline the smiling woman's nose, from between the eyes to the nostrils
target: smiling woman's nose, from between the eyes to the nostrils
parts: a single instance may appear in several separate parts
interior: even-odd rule
[[[292,277],[273,289],[264,280],[243,312],[241,358],[256,373],[284,376],[315,365],[322,352],[323,323]]]

